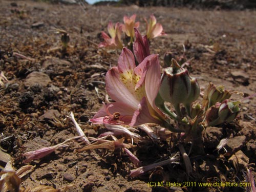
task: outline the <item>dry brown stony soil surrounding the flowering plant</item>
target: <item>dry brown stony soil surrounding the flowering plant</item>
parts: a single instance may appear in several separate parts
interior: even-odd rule
[[[91,125],[88,120],[105,101],[104,75],[117,65],[120,51],[98,49],[97,45],[109,20],[122,22],[124,14],[137,14],[143,33],[143,18],[154,13],[167,35],[151,42],[151,53],[159,54],[163,64],[166,51],[179,57],[184,44],[185,56],[194,58],[190,74],[197,77],[202,90],[212,81],[245,96],[256,92],[254,10],[68,6],[7,0],[1,0],[0,5],[0,70],[9,80],[0,88],[0,147],[2,154],[10,155],[15,169],[25,165],[25,152],[77,136],[67,117],[70,112],[88,137],[96,138],[106,132],[103,126]],[[70,35],[66,53],[58,49],[61,43],[56,29]],[[189,158],[194,170],[189,177],[181,158],[180,164],[158,167],[160,174],[154,170],[131,178],[130,170],[135,166],[121,149],[77,153],[75,150],[85,144],[74,142],[30,162],[35,168],[22,179],[21,186],[70,186],[66,191],[79,192],[245,191],[245,187],[223,186],[151,187],[148,182],[240,183],[245,182],[246,168],[255,177],[255,106],[255,98],[243,100],[241,113],[234,122],[205,130],[205,154],[198,155],[198,149],[192,150]],[[142,131],[137,133],[144,140],[135,143],[131,151],[143,165],[179,152],[169,139],[153,142]],[[228,153],[215,150],[223,138],[230,138]],[[190,145],[185,148],[188,152]],[[236,156],[232,159],[233,154]],[[4,167],[3,157],[0,163]]]

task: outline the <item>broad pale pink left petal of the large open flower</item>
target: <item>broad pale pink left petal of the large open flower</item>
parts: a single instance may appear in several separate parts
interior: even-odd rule
[[[134,110],[138,108],[139,101],[121,81],[117,67],[113,67],[106,73],[105,81],[106,91],[112,99],[123,102]]]

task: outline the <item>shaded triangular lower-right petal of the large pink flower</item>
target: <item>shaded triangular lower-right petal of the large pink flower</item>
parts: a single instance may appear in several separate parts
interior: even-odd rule
[[[151,115],[145,97],[142,98],[139,108],[134,112],[130,126],[138,126],[144,123],[160,123],[159,119]]]

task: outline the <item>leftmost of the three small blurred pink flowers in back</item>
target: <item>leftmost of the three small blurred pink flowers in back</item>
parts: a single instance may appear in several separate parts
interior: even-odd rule
[[[99,47],[109,47],[112,49],[123,48],[123,43],[121,40],[121,34],[122,34],[122,25],[119,23],[116,23],[115,27],[113,26],[112,22],[108,25],[108,34],[106,34],[104,31],[101,32],[101,35],[104,39],[104,42],[101,42],[99,44]]]

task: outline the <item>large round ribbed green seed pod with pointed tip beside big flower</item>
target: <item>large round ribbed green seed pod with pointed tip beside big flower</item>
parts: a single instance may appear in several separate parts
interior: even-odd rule
[[[164,69],[161,78],[160,96],[163,100],[176,105],[183,103],[191,91],[191,83],[188,71],[181,68],[175,59],[172,59],[172,67]]]

